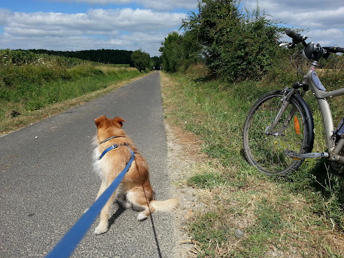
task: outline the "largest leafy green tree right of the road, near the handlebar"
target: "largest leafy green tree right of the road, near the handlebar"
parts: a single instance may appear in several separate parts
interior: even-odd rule
[[[197,35],[206,65],[231,81],[258,79],[272,67],[283,30],[259,8],[242,14],[235,0],[202,0],[182,28]]]

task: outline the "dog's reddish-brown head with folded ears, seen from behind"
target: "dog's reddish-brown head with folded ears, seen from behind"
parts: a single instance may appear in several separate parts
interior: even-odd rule
[[[121,136],[124,132],[121,130],[123,118],[116,116],[114,119],[109,119],[106,116],[100,116],[94,120],[98,129],[98,139],[108,138],[111,136]]]

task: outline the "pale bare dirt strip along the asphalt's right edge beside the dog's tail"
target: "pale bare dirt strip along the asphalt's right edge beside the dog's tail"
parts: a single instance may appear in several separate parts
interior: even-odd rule
[[[187,222],[197,211],[205,211],[206,204],[200,200],[201,190],[186,184],[186,180],[195,172],[198,162],[204,162],[206,155],[200,150],[200,140],[193,133],[182,131],[165,122],[169,175],[173,182],[173,197],[180,199],[180,208],[175,213],[175,258],[195,257],[200,244],[188,235]],[[196,144],[196,142],[198,144]]]

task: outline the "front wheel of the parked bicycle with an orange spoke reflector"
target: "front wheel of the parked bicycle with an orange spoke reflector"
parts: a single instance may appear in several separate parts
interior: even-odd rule
[[[287,110],[273,131],[282,130],[286,116],[290,114],[292,107],[296,107],[293,119],[287,127],[279,136],[265,133],[281,108],[283,96],[284,93],[281,91],[269,92],[261,96],[251,107],[244,124],[243,141],[246,158],[252,166],[257,166],[259,171],[267,175],[286,175],[301,166],[304,159],[289,158],[286,149],[297,153],[308,153],[313,147],[312,114],[298,94],[292,96]]]

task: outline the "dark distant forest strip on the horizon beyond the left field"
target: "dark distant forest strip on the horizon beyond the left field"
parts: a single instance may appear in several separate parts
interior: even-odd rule
[[[87,61],[111,64],[129,64],[133,66],[131,60],[132,51],[127,50],[81,50],[81,51],[54,51],[54,50],[29,50],[36,54],[50,54],[54,56],[65,56],[79,58]]]

